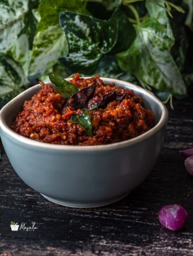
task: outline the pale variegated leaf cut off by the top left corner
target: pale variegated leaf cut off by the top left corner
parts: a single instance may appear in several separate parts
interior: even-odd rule
[[[0,52],[10,49],[24,27],[28,0],[0,2]]]

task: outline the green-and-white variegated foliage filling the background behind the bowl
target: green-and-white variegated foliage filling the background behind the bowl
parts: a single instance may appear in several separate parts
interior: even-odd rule
[[[0,14],[0,107],[51,72],[134,82],[165,102],[193,81],[193,0],[4,0]]]

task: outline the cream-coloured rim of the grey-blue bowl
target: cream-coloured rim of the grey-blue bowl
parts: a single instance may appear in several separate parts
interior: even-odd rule
[[[84,79],[90,78],[90,77],[83,77]],[[66,79],[69,81],[72,78]],[[149,98],[151,98],[154,102],[156,102],[160,108],[161,108],[161,118],[160,121],[157,123],[156,126],[152,127],[149,131],[146,131],[144,134],[141,134],[135,138],[128,139],[127,141],[122,142],[116,142],[111,144],[104,144],[104,145],[95,145],[95,146],[74,146],[74,145],[62,145],[62,144],[52,144],[52,143],[45,143],[45,142],[39,142],[32,140],[30,138],[26,138],[15,131],[11,130],[11,128],[7,125],[4,114],[7,109],[9,109],[9,106],[14,104],[16,101],[19,100],[20,97],[24,96],[26,93],[30,92],[31,90],[35,90],[35,88],[38,88],[40,84],[33,85],[31,88],[28,88],[24,90],[24,92],[20,93],[18,96],[13,98],[11,101],[9,101],[0,111],[0,127],[1,129],[10,137],[16,139],[17,141],[20,141],[24,144],[27,144],[28,146],[35,146],[39,148],[46,148],[48,150],[59,150],[59,151],[101,151],[101,150],[114,150],[118,148],[122,148],[125,146],[130,146],[132,144],[136,144],[138,142],[144,141],[145,139],[148,139],[153,134],[157,133],[158,130],[160,130],[163,126],[166,125],[167,119],[168,119],[168,112],[165,105],[162,104],[162,102],[149,90],[146,90],[144,88],[141,88],[140,86],[137,86],[135,84],[132,84],[130,82],[118,80],[118,79],[111,79],[107,77],[100,77],[104,82],[115,82],[115,84],[123,84],[124,86],[129,86],[128,89],[135,89],[136,92],[141,92],[142,94],[145,94]],[[51,82],[45,82],[45,84],[52,84]]]

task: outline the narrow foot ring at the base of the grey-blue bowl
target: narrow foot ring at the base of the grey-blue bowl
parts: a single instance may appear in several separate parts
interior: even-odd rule
[[[103,207],[104,205],[112,204],[115,203],[121,199],[123,199],[125,196],[127,196],[131,191],[127,192],[124,195],[121,195],[119,197],[116,197],[115,199],[109,200],[109,201],[104,201],[104,202],[99,202],[99,203],[81,203],[81,202],[74,202],[74,201],[63,201],[63,200],[58,200],[54,199],[49,196],[45,196],[41,194],[45,199],[51,201],[52,203],[55,204],[60,204],[64,205],[66,207],[73,207],[73,208],[95,208],[95,207]]]

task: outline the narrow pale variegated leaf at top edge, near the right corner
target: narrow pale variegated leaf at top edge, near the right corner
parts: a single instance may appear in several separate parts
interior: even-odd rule
[[[162,6],[162,7],[161,7]],[[171,30],[170,20],[167,16],[167,12],[165,9],[165,3],[162,0],[146,0],[145,7],[148,9],[148,14],[150,17],[156,18],[160,24],[166,27],[167,35],[174,43],[174,35]]]

